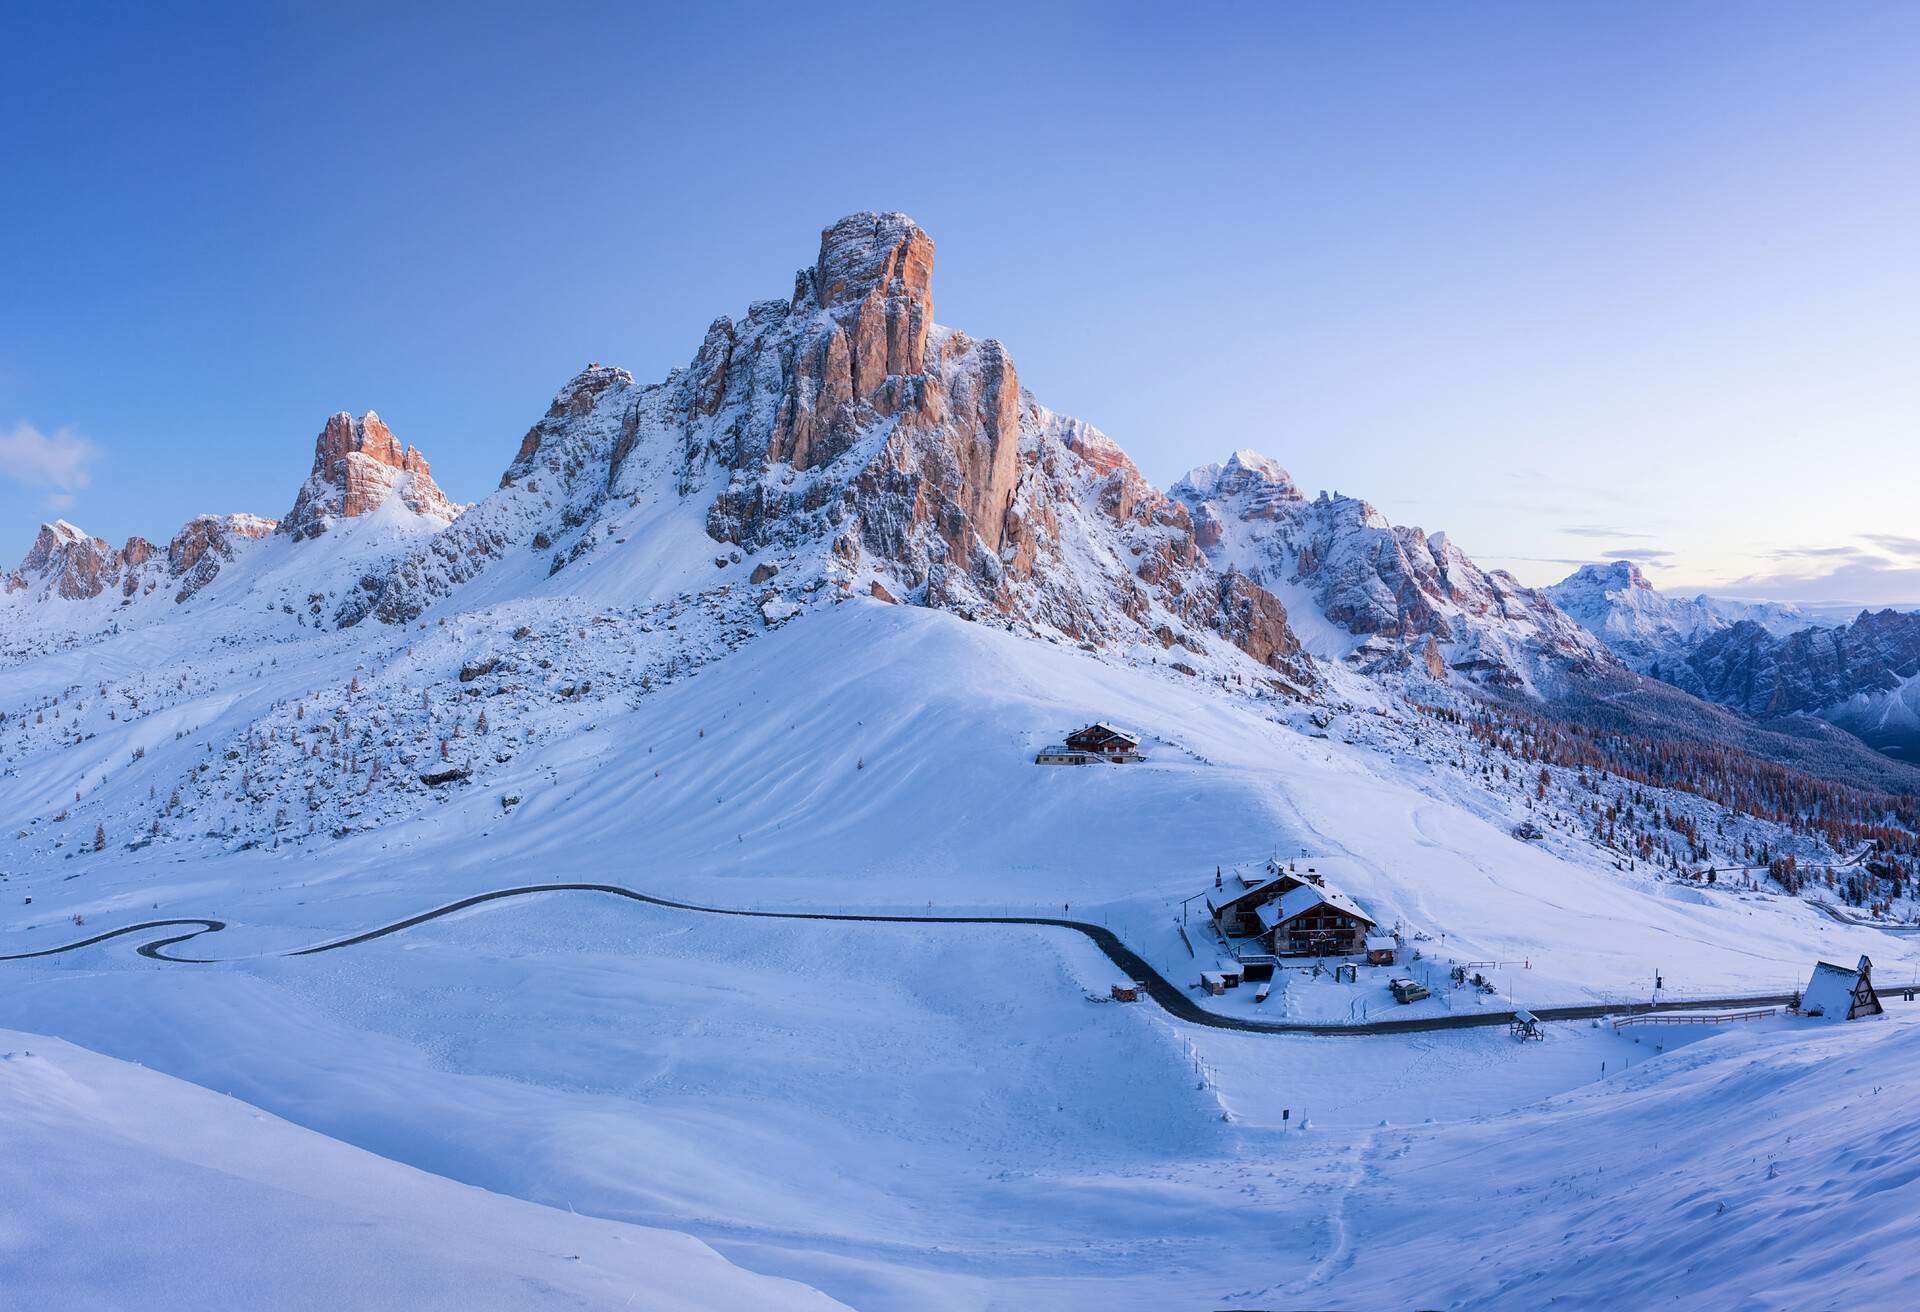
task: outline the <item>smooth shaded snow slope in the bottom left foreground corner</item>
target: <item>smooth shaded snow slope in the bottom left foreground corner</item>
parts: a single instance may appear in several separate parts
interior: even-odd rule
[[[835,1308],[703,1243],[457,1185],[60,1039],[0,1032],[15,1308]]]

